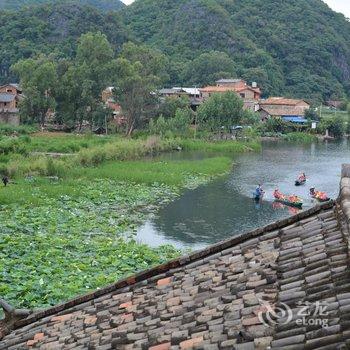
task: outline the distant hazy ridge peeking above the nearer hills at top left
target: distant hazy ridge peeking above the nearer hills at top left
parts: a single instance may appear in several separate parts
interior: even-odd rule
[[[61,0],[62,1],[62,0]],[[90,5],[103,11],[119,10],[125,6],[120,0],[64,0],[79,5]],[[55,0],[0,0],[0,9],[18,10],[25,6],[57,3]]]

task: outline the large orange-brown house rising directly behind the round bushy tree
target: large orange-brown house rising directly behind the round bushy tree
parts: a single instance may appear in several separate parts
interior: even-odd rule
[[[256,83],[248,85],[243,79],[220,79],[216,86],[206,86],[199,89],[203,100],[208,99],[214,93],[235,92],[243,99],[244,108],[255,111],[256,105],[261,98],[261,90]]]

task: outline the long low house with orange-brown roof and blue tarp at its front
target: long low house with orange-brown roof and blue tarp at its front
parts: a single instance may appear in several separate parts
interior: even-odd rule
[[[282,118],[302,124],[306,122],[304,117],[308,109],[310,109],[310,104],[304,100],[270,97],[260,101],[257,111],[262,121],[269,118]]]

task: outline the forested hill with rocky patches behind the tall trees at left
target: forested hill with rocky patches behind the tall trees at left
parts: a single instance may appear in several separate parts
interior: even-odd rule
[[[42,52],[72,57],[77,39],[89,31],[106,34],[115,49],[128,40],[116,12],[70,3],[0,11],[0,83],[16,80],[10,67],[21,58]]]

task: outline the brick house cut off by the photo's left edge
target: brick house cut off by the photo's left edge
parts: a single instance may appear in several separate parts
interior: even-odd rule
[[[22,97],[22,90],[18,84],[0,86],[0,123],[19,125],[18,102]]]

